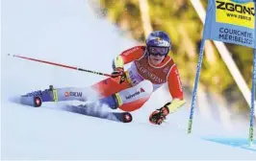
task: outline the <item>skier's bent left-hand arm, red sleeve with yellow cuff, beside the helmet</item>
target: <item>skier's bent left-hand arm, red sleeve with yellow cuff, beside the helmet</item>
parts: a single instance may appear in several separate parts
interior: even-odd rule
[[[125,50],[114,59],[113,68],[123,68],[124,64],[141,58],[144,54],[144,48],[143,46],[135,46]]]

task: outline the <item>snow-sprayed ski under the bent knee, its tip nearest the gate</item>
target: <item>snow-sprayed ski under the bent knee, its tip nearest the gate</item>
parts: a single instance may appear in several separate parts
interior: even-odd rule
[[[65,111],[73,112],[73,113],[79,113],[82,115],[112,120],[112,121],[121,122],[121,123],[130,123],[133,120],[133,117],[130,112],[102,111],[97,108],[87,107],[83,104],[81,104],[81,105],[64,105],[64,107],[62,107],[62,109]]]

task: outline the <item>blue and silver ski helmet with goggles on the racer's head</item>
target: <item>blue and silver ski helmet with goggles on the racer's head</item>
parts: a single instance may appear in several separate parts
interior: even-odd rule
[[[155,31],[149,34],[145,43],[149,55],[167,56],[171,48],[171,41],[168,34],[162,31]],[[154,48],[161,48],[161,50],[156,53],[154,52]]]

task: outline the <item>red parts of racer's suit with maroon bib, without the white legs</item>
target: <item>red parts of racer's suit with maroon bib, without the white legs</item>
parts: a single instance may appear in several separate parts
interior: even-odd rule
[[[131,67],[125,71],[127,80],[118,83],[117,79],[109,78],[92,85],[102,97],[113,95],[119,91],[130,88],[143,80],[151,81],[153,91],[164,83],[167,83],[168,90],[173,99],[183,100],[183,89],[179,73],[173,59],[166,56],[164,61],[158,66],[150,64],[145,46],[136,46],[122,52],[115,59],[115,67],[122,67],[131,63]],[[124,111],[134,111],[139,109],[148,98],[137,100],[133,103],[119,106]]]

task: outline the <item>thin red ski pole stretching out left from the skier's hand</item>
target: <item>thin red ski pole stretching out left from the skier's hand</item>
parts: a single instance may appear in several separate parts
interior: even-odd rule
[[[91,71],[91,70],[82,69],[82,68],[75,67],[75,66],[69,66],[69,65],[56,63],[56,62],[41,60],[41,59],[37,59],[37,58],[27,58],[27,57],[18,56],[18,55],[11,55],[11,54],[8,54],[8,56],[13,56],[14,58],[23,58],[23,59],[28,59],[28,60],[32,60],[32,61],[38,61],[38,62],[41,62],[41,63],[50,64],[50,65],[61,66],[61,67],[64,67],[64,68],[74,69],[74,70],[78,70],[78,71],[82,71],[82,72],[88,72],[88,73],[92,73],[92,74],[95,74],[95,75],[111,77],[111,75],[109,75],[109,74],[104,74],[104,73],[100,73],[100,72],[96,72],[96,71]]]

